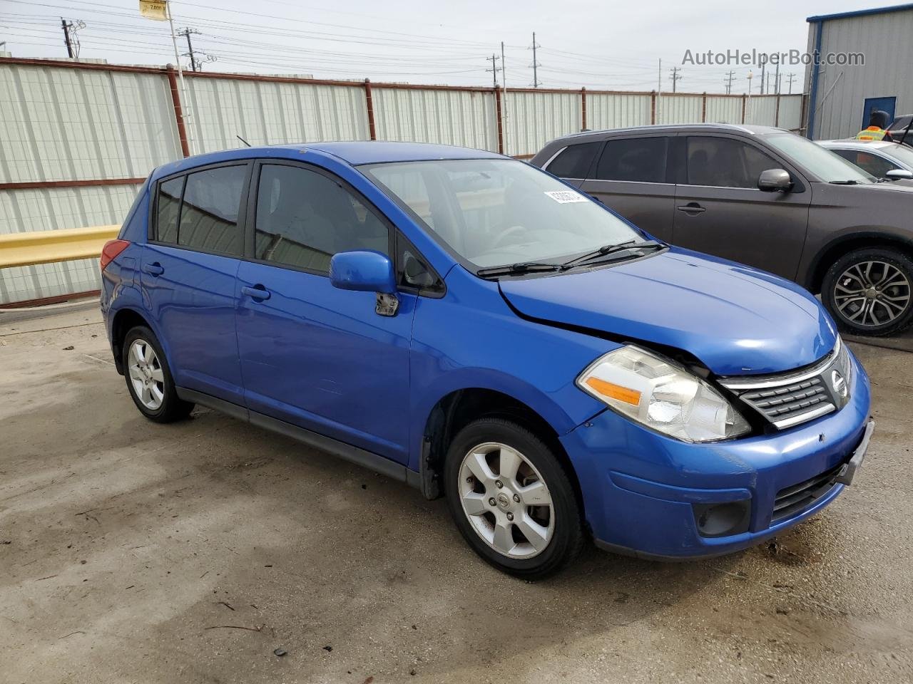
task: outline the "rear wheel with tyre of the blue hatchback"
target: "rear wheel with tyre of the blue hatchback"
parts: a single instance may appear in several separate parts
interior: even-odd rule
[[[194,409],[194,404],[177,396],[162,346],[148,327],[131,328],[124,337],[123,368],[133,403],[149,420],[170,423]]]

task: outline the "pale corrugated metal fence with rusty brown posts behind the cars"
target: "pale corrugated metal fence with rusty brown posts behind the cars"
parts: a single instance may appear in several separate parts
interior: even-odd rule
[[[0,58],[0,233],[120,223],[152,168],[194,147],[238,147],[236,136],[253,145],[414,140],[525,158],[583,128],[708,121],[798,129],[803,98],[584,88],[505,95],[491,88],[186,76],[185,102],[172,69]],[[3,269],[0,305],[95,290],[98,279],[94,260]]]

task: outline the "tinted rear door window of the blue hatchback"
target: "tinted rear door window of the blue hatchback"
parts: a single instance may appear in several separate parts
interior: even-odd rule
[[[225,166],[187,175],[177,244],[191,249],[236,254],[243,251],[237,224],[247,166]]]

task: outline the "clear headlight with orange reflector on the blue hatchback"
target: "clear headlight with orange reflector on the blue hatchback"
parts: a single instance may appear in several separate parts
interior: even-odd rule
[[[727,440],[750,431],[748,422],[707,382],[639,347],[621,347],[596,359],[577,385],[628,418],[677,440]]]

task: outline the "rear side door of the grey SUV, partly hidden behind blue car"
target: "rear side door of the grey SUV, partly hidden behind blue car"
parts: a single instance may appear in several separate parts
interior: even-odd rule
[[[669,140],[667,134],[607,140],[581,190],[638,228],[670,241],[676,186],[667,163]]]

